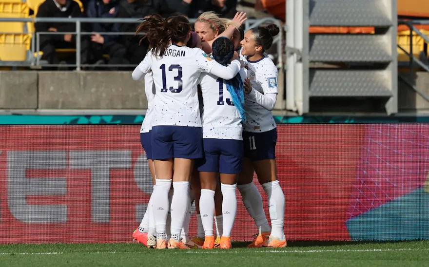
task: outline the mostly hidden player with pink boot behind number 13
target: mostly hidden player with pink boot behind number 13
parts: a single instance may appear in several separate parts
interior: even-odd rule
[[[201,38],[195,33],[191,32],[191,37],[186,44],[187,47],[190,48],[199,48],[201,49]],[[155,98],[155,86],[154,86],[154,79],[152,76],[152,72],[147,73],[144,76],[144,83],[145,83],[145,93],[146,93],[146,99],[148,101],[148,108],[146,110],[146,115],[144,117],[143,123],[141,124],[140,128],[140,142],[145,150],[147,159],[148,159],[148,165],[149,169],[152,175],[153,184],[155,186],[155,166],[154,161],[152,160],[152,148],[151,148],[151,118],[152,118],[152,111],[153,111],[153,105],[154,102],[152,101]],[[169,201],[171,202],[171,197],[173,196],[173,193],[169,192]],[[151,198],[152,199],[152,198]],[[187,214],[187,217],[185,219],[184,227],[182,230],[182,239],[185,239],[185,241],[188,238],[188,232],[189,232],[189,220],[190,220],[190,210]],[[170,216],[168,216],[170,217]],[[167,218],[167,225],[171,221],[171,218]],[[169,235],[169,233],[167,233]],[[137,242],[144,244],[148,248],[155,248],[156,247],[156,230],[155,230],[155,221],[154,221],[154,215],[152,210],[152,201],[149,200],[148,207],[146,209],[146,212],[144,213],[143,219],[141,220],[141,223],[133,233],[133,238],[137,240]],[[193,245],[192,242],[187,242],[190,245]]]

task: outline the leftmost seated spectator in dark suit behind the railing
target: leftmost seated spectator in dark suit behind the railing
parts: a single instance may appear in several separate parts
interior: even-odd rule
[[[77,2],[73,0],[45,0],[37,12],[37,18],[79,18],[83,13]],[[35,24],[36,32],[75,32],[75,23],[65,22],[37,22]],[[51,34],[40,35],[40,51],[43,52],[49,64],[59,64],[59,58],[55,49],[58,48],[76,48],[76,36],[72,34]],[[82,64],[88,62],[89,40],[82,36],[81,54]],[[71,60],[74,60],[71,59]],[[69,62],[67,62],[69,63]]]

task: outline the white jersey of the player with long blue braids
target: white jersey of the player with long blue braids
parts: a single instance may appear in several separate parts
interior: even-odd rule
[[[241,79],[246,78],[244,69]],[[201,114],[203,138],[243,140],[241,116],[231,100],[224,79],[202,74],[198,79],[203,96]]]

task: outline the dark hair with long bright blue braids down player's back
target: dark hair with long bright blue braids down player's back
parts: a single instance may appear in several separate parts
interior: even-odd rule
[[[219,64],[226,66],[234,57],[234,43],[228,38],[217,38],[212,44],[212,56]],[[238,73],[234,78],[226,80],[226,88],[230,92],[235,108],[241,116],[241,121],[246,122],[244,110],[244,84]]]

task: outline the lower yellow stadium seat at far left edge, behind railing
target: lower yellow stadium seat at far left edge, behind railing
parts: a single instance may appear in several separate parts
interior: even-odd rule
[[[0,60],[25,61],[30,43],[29,34],[0,34]]]

